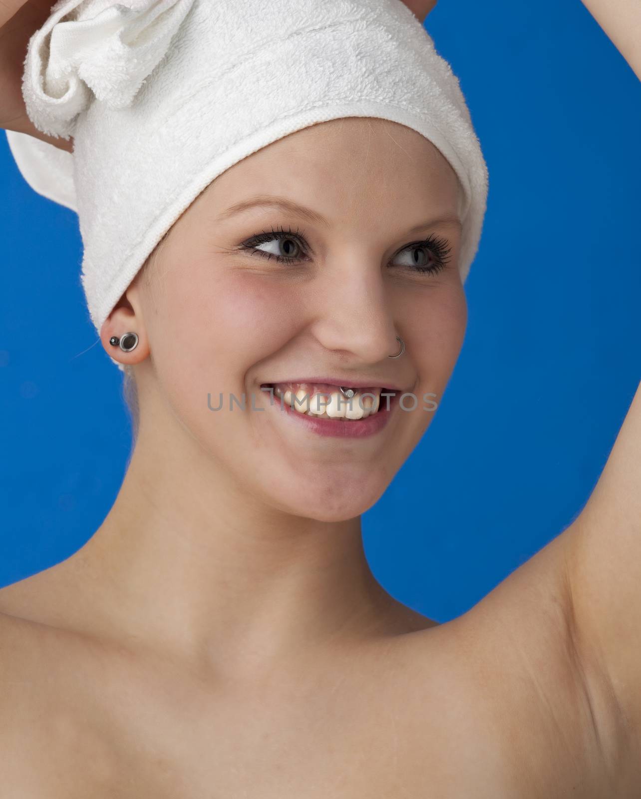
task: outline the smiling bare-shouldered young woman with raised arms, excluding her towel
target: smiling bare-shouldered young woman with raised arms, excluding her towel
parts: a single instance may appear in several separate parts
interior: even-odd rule
[[[586,5],[639,76],[637,4]],[[19,87],[49,10],[0,6],[0,123],[72,149]],[[432,415],[395,398],[384,424],[319,435],[270,402],[442,394],[467,320],[459,201],[424,137],[351,117],[233,165],[173,225],[102,327],[137,392],[117,500],[0,591],[3,795],[639,796],[641,391],[575,523],[441,625],[380,587],[360,539]],[[416,270],[402,232],[425,219]],[[131,352],[109,344],[129,331]],[[256,412],[203,413],[219,391]]]

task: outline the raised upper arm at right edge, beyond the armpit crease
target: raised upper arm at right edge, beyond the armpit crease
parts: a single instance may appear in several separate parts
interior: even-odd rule
[[[571,626],[583,662],[605,675],[619,714],[615,752],[641,789],[641,384],[603,473],[561,536]],[[622,777],[623,778],[623,777]]]

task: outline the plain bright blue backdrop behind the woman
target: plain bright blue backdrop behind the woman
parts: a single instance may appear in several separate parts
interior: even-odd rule
[[[490,189],[468,331],[432,426],[364,515],[376,578],[439,622],[559,534],[641,378],[641,85],[579,0],[440,0],[426,26]],[[131,431],[86,310],[78,219],[0,135],[0,586],[106,517]]]

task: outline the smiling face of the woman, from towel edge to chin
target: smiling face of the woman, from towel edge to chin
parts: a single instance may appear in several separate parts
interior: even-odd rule
[[[291,207],[250,205],[258,197]],[[173,226],[149,284],[128,290],[152,354],[137,370],[141,431],[145,397],[159,392],[245,495],[322,521],[372,507],[431,422],[463,343],[459,202],[436,147],[375,118],[313,125],[233,165]],[[405,352],[388,358],[396,335]],[[376,432],[322,435],[261,389],[305,378],[401,391]],[[230,410],[231,395],[245,410]]]

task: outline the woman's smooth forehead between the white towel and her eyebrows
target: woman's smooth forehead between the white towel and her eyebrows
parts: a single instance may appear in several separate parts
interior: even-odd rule
[[[297,130],[222,173],[207,202],[222,209],[260,193],[291,197],[324,216],[360,212],[459,213],[462,189],[436,145],[377,117],[346,117]]]

